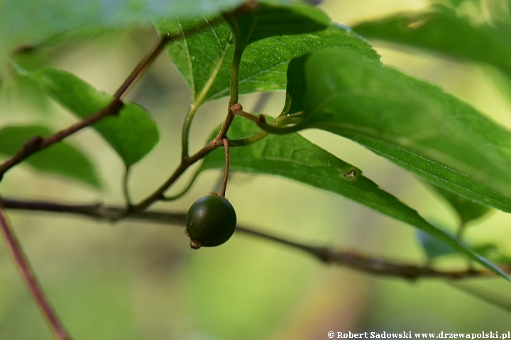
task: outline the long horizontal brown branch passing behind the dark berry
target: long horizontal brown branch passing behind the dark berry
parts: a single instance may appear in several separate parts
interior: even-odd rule
[[[107,222],[116,222],[119,219],[116,216],[123,212],[124,208],[116,206],[106,206],[101,204],[94,205],[65,205],[58,203],[48,203],[41,201],[24,201],[4,199],[4,207],[15,210],[35,210],[46,212],[67,212],[74,215],[83,215],[93,217]],[[126,215],[123,219],[137,220],[141,222],[156,222],[172,225],[185,225],[186,212],[166,212],[166,211],[143,211],[135,215]],[[495,277],[495,273],[487,269],[469,268],[463,271],[439,271],[431,266],[419,266],[397,261],[388,261],[378,259],[372,256],[358,253],[356,251],[339,251],[326,246],[311,246],[299,242],[293,242],[289,239],[277,237],[265,232],[258,232],[248,227],[238,225],[236,232],[260,237],[272,242],[284,244],[294,249],[305,251],[324,263],[336,263],[348,266],[357,271],[363,271],[378,276],[394,276],[414,280],[417,278],[447,278],[462,279],[476,277]],[[511,273],[511,266],[500,267],[502,271]]]

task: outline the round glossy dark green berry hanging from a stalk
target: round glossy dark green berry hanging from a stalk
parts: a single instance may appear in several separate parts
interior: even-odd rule
[[[216,195],[204,196],[189,208],[186,225],[192,248],[219,246],[234,234],[236,212],[229,200]]]

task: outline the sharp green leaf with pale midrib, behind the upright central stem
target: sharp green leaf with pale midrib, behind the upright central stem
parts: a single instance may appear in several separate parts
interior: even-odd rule
[[[229,95],[233,41],[226,22],[214,25],[206,17],[179,18],[156,25],[160,35],[183,32],[201,23],[210,29],[167,45],[167,54],[192,92],[192,101],[200,105]],[[368,43],[344,26],[331,25],[326,30],[300,35],[282,35],[258,40],[246,47],[241,59],[239,92],[278,91],[286,88],[287,64],[295,57],[314,50],[343,46],[373,59],[376,52]]]

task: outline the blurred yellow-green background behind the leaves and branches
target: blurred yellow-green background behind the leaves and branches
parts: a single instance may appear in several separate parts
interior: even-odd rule
[[[396,11],[429,5],[419,0],[326,0],[320,6],[350,26]],[[33,62],[77,74],[113,93],[158,40],[151,28],[129,28],[38,52]],[[493,70],[374,43],[385,64],[427,79],[511,128],[510,93]],[[75,118],[28,84],[6,81],[0,94],[1,125],[38,122],[62,128]],[[180,128],[189,91],[165,54],[128,94],[160,127],[158,146],[133,168],[130,189],[138,200],[178,164]],[[243,96],[250,108],[258,95]],[[265,113],[276,115],[284,94],[275,93]],[[208,103],[192,127],[199,149],[226,111],[226,100]],[[414,176],[363,147],[327,132],[305,137],[361,168],[385,190],[421,215],[454,231],[456,216]],[[143,137],[143,136],[141,136]],[[4,197],[120,204],[123,164],[92,130],[70,141],[99,167],[105,189],[41,175],[28,166],[9,171]],[[191,173],[192,171],[189,171]],[[171,192],[187,183],[187,176]],[[187,195],[155,208],[186,211],[214,191],[221,172],[204,173]],[[386,259],[424,263],[414,229],[332,193],[271,176],[233,174],[227,196],[243,225],[310,244],[357,249]],[[468,295],[445,280],[373,277],[325,266],[307,254],[244,234],[194,251],[182,227],[141,222],[109,225],[84,217],[9,211],[36,275],[74,339],[327,339],[328,331],[510,331],[511,314]],[[493,242],[511,254],[511,218],[492,212],[474,223],[466,239]],[[449,266],[463,261],[446,261]],[[503,294],[502,279],[470,280]],[[28,294],[6,246],[0,244],[0,339],[53,339]]]

